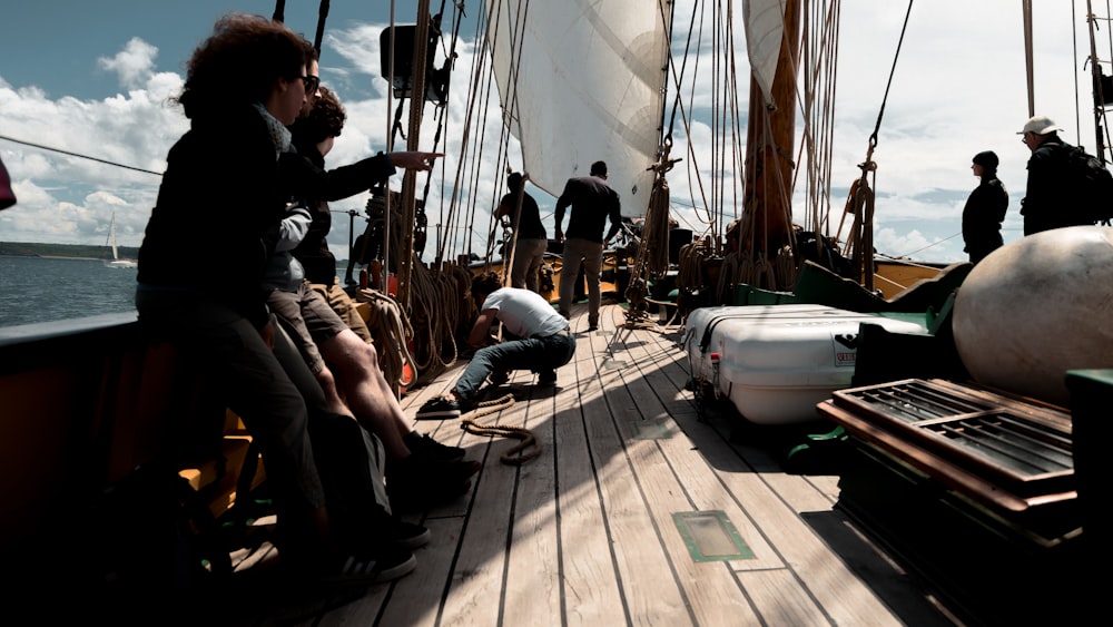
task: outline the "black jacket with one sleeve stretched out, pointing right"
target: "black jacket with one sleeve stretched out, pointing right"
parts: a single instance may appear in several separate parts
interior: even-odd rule
[[[333,224],[328,200],[339,200],[366,192],[373,185],[390,178],[395,169],[390,157],[380,153],[353,165],[325,172],[325,157],[315,144],[303,146],[295,137],[294,146],[302,160],[308,164],[302,167],[309,169],[305,175],[305,188],[294,189],[293,195],[301,198],[313,213],[313,224],[302,243],[294,248],[294,258],[302,263],[309,283],[332,285],[336,280],[336,257],[328,249],[328,242],[325,239]],[[299,184],[295,180],[293,185]]]

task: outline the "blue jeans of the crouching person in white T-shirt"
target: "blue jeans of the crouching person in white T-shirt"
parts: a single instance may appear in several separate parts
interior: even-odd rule
[[[568,327],[546,337],[511,340],[480,349],[456,380],[456,396],[463,401],[474,399],[475,392],[493,371],[552,372],[572,361],[573,354],[575,337]]]

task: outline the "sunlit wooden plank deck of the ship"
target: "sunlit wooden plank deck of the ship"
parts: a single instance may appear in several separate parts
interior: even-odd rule
[[[513,406],[479,419],[529,429],[536,459],[501,462],[516,440],[470,433],[460,420],[417,423],[483,469],[457,502],[405,515],[433,532],[414,572],[359,589],[245,588],[223,616],[244,625],[957,623],[837,507],[838,476],[786,472],[778,440],[745,430],[739,441],[737,414],[721,408],[701,419],[684,389],[680,327],[626,329],[623,312],[604,304],[589,333],[580,305],[577,354],[558,385],[515,373]],[[407,413],[464,365],[405,396]],[[678,520],[720,530],[719,541],[686,541]],[[722,539],[730,531],[733,543]],[[272,557],[256,551],[240,568],[260,570]]]

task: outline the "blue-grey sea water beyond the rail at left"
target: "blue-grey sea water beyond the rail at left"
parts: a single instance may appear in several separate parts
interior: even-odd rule
[[[136,268],[0,256],[0,326],[135,311]]]

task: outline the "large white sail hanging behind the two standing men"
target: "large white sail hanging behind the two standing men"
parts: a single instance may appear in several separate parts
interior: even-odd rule
[[[664,0],[487,0],[487,9],[503,111],[531,182],[559,196],[604,160],[623,214],[644,214],[664,107]]]

